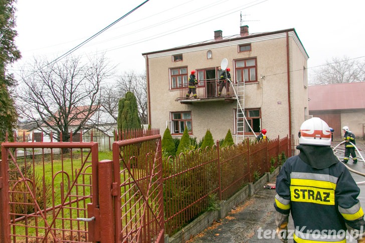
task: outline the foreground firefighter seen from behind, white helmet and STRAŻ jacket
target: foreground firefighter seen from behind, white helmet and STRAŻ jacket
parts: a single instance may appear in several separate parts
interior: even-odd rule
[[[326,122],[313,117],[299,131],[299,155],[283,164],[276,179],[276,233],[287,241],[288,218],[294,222],[294,242],[346,242],[346,229],[365,242],[363,211],[350,172],[330,147]]]

